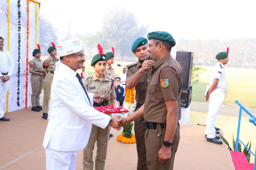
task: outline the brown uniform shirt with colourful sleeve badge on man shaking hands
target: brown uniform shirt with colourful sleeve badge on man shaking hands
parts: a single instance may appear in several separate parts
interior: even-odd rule
[[[178,102],[178,120],[181,118],[182,75],[178,75],[174,70],[176,68],[181,73],[173,60],[170,55],[167,55],[152,65],[152,77],[148,83],[144,105],[144,119],[148,122],[166,123],[166,100]]]

